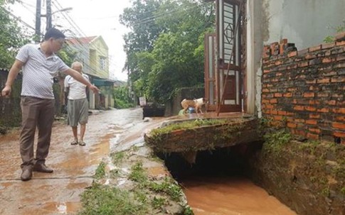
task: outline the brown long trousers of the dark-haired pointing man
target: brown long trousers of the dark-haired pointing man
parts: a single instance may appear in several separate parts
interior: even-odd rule
[[[54,99],[21,97],[22,130],[20,137],[21,168],[31,168],[33,164],[46,162],[51,145],[51,128],[54,121]],[[36,127],[38,140],[36,158],[33,156],[33,142]]]

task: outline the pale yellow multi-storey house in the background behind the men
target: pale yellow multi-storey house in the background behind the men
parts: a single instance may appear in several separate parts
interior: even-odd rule
[[[100,89],[99,94],[89,92],[90,109],[114,107],[113,80],[109,79],[109,53],[102,36],[71,38],[67,40],[70,48],[78,53],[76,60],[83,63],[85,74],[90,82]]]

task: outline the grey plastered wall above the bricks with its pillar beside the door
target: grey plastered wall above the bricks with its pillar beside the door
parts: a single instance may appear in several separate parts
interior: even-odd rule
[[[262,47],[287,38],[298,50],[322,43],[344,25],[345,0],[247,0],[248,113],[261,113]],[[329,28],[329,27],[333,28]]]

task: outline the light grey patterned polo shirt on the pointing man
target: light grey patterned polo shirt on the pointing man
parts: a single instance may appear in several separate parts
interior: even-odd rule
[[[55,54],[46,57],[40,44],[24,45],[16,55],[24,63],[21,95],[41,99],[54,99],[53,77],[58,71],[65,72],[67,65]]]

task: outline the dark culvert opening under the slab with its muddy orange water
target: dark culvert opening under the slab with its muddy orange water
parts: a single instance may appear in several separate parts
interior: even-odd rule
[[[158,156],[181,184],[196,215],[297,215],[250,179],[261,148],[262,142],[255,142],[199,151],[193,164],[181,153]]]

